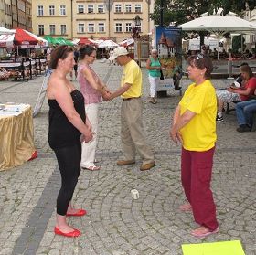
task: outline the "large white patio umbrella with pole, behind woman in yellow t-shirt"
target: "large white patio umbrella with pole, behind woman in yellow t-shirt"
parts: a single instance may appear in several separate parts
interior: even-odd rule
[[[227,32],[256,32],[251,22],[237,16],[201,16],[181,25],[185,31],[208,31],[218,37]],[[219,59],[219,44],[218,44]]]

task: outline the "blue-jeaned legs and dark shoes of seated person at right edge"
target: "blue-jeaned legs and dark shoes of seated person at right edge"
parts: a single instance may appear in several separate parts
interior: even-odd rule
[[[249,132],[252,126],[253,112],[256,112],[256,90],[251,100],[240,101],[236,104],[239,127],[237,132]]]

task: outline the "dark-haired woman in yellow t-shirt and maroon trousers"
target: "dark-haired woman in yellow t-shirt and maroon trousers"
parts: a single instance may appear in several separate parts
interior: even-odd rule
[[[192,211],[199,228],[191,234],[204,238],[219,231],[216,206],[210,189],[215,150],[217,100],[209,80],[213,66],[208,55],[187,58],[188,78],[194,82],[187,88],[176,107],[170,137],[182,143],[181,181],[187,204],[181,211]]]

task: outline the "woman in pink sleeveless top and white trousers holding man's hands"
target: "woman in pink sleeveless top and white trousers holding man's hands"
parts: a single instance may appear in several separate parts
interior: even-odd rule
[[[93,139],[90,143],[82,143],[82,153],[80,165],[88,170],[99,170],[101,167],[94,165],[95,151],[97,146],[98,133],[98,109],[103,99],[108,99],[109,90],[103,84],[97,74],[91,69],[90,65],[96,58],[96,49],[86,45],[80,48],[80,65],[78,80],[80,92],[84,97],[86,116],[91,122]]]

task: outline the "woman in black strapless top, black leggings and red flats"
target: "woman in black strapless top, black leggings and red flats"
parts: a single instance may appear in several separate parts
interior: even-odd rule
[[[59,46],[51,52],[48,79],[48,143],[56,154],[61,175],[57,198],[56,235],[79,237],[80,230],[67,223],[69,216],[83,216],[84,209],[71,205],[73,192],[80,176],[81,142],[92,139],[91,123],[86,118],[84,99],[79,90],[66,78],[75,64],[73,49]]]

